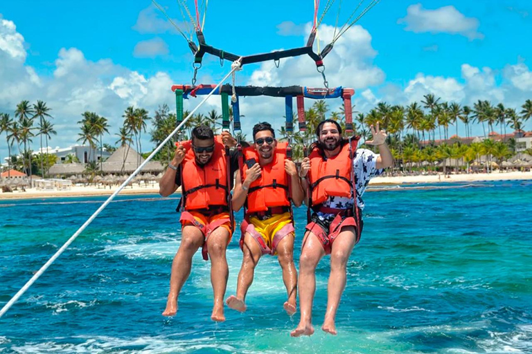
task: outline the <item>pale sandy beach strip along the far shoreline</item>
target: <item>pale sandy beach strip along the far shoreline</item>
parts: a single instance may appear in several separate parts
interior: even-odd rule
[[[421,176],[380,176],[373,178],[370,185],[402,185],[404,183],[449,183],[449,182],[475,182],[485,180],[532,180],[532,171],[529,172],[499,172],[494,171],[491,174],[451,174],[450,176],[439,175],[421,175]],[[26,192],[14,191],[10,193],[1,193],[0,200],[3,199],[29,199],[29,198],[57,198],[67,196],[110,196],[119,186],[96,187],[90,186],[73,186],[69,190],[37,190],[27,188]],[[150,183],[149,185],[127,186],[121,190],[120,194],[159,194],[159,185]]]

